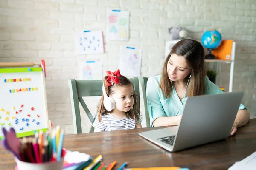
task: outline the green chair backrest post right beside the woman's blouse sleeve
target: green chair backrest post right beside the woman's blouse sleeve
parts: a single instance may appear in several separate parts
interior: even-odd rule
[[[146,125],[147,125],[147,127],[150,127],[150,118],[149,118],[149,113],[148,113],[148,102],[147,102],[147,96],[146,96],[148,77],[139,77],[139,82],[140,82],[140,86],[142,89],[142,95],[143,95],[143,101],[144,101]]]

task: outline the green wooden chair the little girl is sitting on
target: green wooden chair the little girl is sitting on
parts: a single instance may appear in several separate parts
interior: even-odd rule
[[[134,90],[137,92],[138,100],[140,102],[139,79],[137,77],[134,77],[130,78],[130,81],[134,85]],[[82,97],[102,96],[102,80],[69,79],[68,85],[70,90],[70,99],[72,106],[74,134],[82,133],[79,102],[82,108],[84,109],[85,113],[87,114],[88,118],[90,119],[90,122],[93,124],[97,114],[95,115],[95,117],[92,116]],[[93,131],[94,127],[91,125],[89,133]]]

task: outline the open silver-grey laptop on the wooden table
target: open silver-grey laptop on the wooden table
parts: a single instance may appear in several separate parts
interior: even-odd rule
[[[179,126],[139,133],[175,152],[230,135],[244,92],[188,97]]]

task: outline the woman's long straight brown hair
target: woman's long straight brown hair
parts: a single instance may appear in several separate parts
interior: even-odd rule
[[[183,39],[172,47],[171,52],[168,54],[163,64],[159,87],[162,89],[164,96],[168,98],[172,93],[172,84],[167,73],[167,64],[172,54],[183,56],[188,66],[191,68],[191,74],[185,78],[188,81],[191,75],[187,87],[187,96],[203,95],[205,89],[204,79],[206,76],[204,48],[200,42],[196,40]]]

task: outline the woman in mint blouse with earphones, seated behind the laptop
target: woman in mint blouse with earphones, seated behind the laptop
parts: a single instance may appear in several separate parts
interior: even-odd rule
[[[148,78],[151,126],[179,125],[187,97],[220,93],[224,92],[206,76],[203,46],[196,40],[180,40],[166,58],[162,74]],[[241,104],[230,135],[249,119],[250,113]]]

